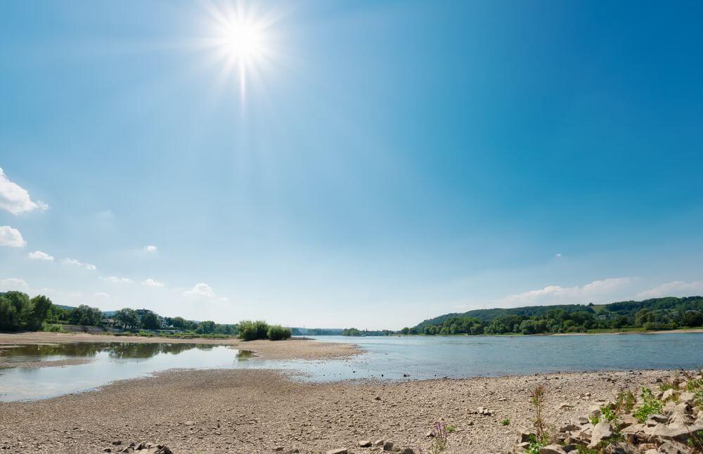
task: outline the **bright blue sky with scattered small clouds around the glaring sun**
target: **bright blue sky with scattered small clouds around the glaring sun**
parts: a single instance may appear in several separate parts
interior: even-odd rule
[[[702,9],[3,2],[0,290],[360,328],[702,294]]]

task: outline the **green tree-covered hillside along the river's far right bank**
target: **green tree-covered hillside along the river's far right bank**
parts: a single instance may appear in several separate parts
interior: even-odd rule
[[[482,312],[480,312],[482,311]],[[589,332],[598,330],[673,330],[703,325],[703,298],[657,298],[645,301],[622,301],[612,304],[531,306],[515,309],[470,311],[485,315],[488,311],[506,315],[491,319],[448,314],[425,320],[416,327],[405,327],[406,335],[492,335]],[[534,314],[534,315],[530,315]]]

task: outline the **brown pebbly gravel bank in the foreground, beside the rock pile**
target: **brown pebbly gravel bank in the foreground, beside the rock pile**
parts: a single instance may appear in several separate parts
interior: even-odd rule
[[[522,377],[311,384],[270,370],[186,370],[116,382],[99,391],[0,403],[0,450],[101,453],[113,441],[164,443],[174,453],[325,453],[386,439],[423,448],[438,418],[456,426],[447,453],[505,453],[530,424],[529,392],[547,391],[548,422],[583,415],[620,387],[670,372],[582,372]],[[591,393],[591,396],[583,396]],[[583,396],[583,397],[582,397]],[[562,403],[572,407],[560,408]],[[477,415],[482,406],[491,415]],[[510,425],[503,426],[502,420]]]

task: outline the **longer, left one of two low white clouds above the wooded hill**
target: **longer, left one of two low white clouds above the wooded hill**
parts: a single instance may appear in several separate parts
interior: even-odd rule
[[[508,306],[531,306],[534,304],[584,304],[612,300],[619,290],[630,285],[631,278],[608,278],[576,287],[549,285],[540,290],[511,294],[498,301]]]

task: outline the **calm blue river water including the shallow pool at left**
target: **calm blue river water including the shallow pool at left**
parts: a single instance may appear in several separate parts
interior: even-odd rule
[[[697,368],[703,333],[534,337],[342,337],[366,354],[337,361],[262,361],[207,344],[57,344],[0,349],[0,361],[89,359],[47,368],[0,369],[0,401],[75,393],[174,368],[271,368],[316,382],[520,375],[578,370]]]

